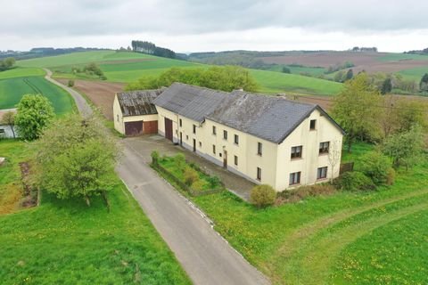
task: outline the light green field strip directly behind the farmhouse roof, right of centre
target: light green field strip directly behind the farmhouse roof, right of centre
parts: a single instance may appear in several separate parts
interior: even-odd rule
[[[261,93],[292,92],[299,94],[335,95],[342,90],[341,83],[325,79],[256,69],[251,69],[250,72],[260,85]]]

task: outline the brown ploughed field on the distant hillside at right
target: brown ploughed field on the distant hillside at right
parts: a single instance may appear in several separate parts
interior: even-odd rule
[[[353,52],[319,52],[319,53],[296,53],[284,56],[260,57],[259,60],[267,63],[278,64],[300,64],[308,67],[328,68],[345,61],[352,62],[355,67],[353,71],[359,72],[397,72],[403,69],[414,69],[428,65],[428,57],[423,60],[399,60],[379,61],[378,58],[388,53],[353,53]]]

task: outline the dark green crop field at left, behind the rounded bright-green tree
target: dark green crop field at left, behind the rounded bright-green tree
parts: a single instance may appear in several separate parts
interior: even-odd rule
[[[70,94],[44,77],[0,79],[0,109],[14,108],[24,94],[43,94],[53,104],[55,113],[68,113],[75,108]]]

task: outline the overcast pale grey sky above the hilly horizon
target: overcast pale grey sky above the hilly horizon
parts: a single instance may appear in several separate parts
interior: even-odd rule
[[[0,50],[128,46],[176,52],[428,47],[428,1],[0,0]]]

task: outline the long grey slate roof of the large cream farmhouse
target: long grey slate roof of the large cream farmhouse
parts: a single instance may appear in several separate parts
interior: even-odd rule
[[[154,104],[200,123],[208,118],[269,142],[283,142],[316,109],[342,131],[341,126],[316,104],[264,94],[226,93],[174,83],[154,100]]]

